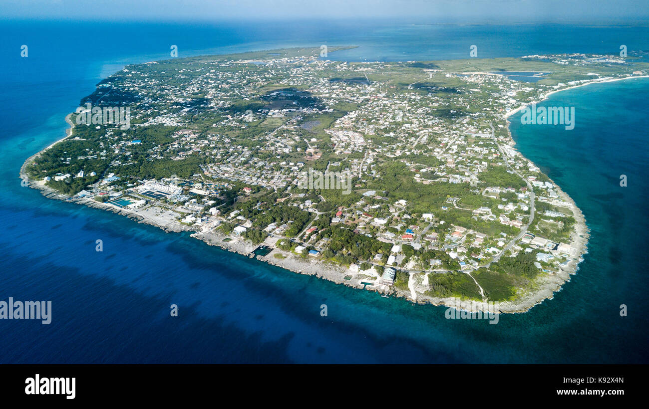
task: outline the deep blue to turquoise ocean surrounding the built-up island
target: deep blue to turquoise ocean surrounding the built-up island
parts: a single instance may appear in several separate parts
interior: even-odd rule
[[[512,118],[519,150],[572,196],[592,237],[554,299],[497,325],[446,320],[443,307],[380,298],[48,200],[18,178],[25,159],[64,135],[65,115],[101,78],[168,58],[172,44],[179,56],[359,45],[329,58],[361,61],[468,58],[473,44],[479,57],[617,53],[620,44],[649,50],[646,25],[3,21],[0,38],[0,299],[53,308],[50,325],[0,320],[0,363],[649,362],[648,80],[543,103],[575,106],[574,130]]]

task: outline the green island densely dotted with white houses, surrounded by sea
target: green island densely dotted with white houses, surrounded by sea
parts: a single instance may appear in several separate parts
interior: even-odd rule
[[[350,47],[323,47],[127,65],[67,115],[66,137],[25,161],[22,183],[413,303],[509,313],[551,299],[589,230],[516,149],[509,117],[648,65],[347,62],[327,56]]]

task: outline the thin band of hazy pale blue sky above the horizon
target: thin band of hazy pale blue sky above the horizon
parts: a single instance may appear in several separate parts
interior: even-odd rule
[[[412,18],[472,21],[637,20],[648,0],[0,0],[2,18],[223,20]]]

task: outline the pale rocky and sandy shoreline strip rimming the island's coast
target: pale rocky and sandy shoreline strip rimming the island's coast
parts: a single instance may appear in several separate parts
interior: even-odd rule
[[[513,150],[515,150],[515,152],[517,152],[517,154],[520,155],[521,158],[528,161],[528,163],[533,164],[533,162],[530,159],[526,158],[524,155],[522,155],[519,152],[519,150],[517,150],[517,148],[515,148],[515,141],[513,140],[513,137],[511,135],[511,129],[509,128],[509,125],[511,124],[509,117],[511,117],[511,115],[513,115],[514,113],[526,108],[527,106],[530,106],[533,103],[542,102],[543,100],[548,99],[550,95],[560,91],[566,91],[567,89],[579,88],[591,84],[605,84],[607,82],[628,80],[631,78],[649,78],[649,75],[628,76],[624,78],[611,78],[605,81],[593,81],[593,82],[587,82],[585,84],[580,84],[577,86],[571,86],[568,88],[556,89],[554,91],[551,91],[543,95],[543,98],[539,101],[529,102],[528,104],[524,104],[515,110],[510,110],[506,112],[502,118],[505,119],[507,123],[509,139],[513,143],[513,145],[511,145],[511,148],[513,148]],[[412,302],[413,304],[415,303],[420,305],[432,304],[435,306],[445,306],[445,307],[456,307],[457,305],[458,298],[454,298],[454,297],[434,298],[431,296],[426,296],[422,292],[417,291],[415,292],[415,298],[413,299],[410,288],[408,290],[402,290],[400,288],[386,287],[384,285],[365,286],[361,283],[361,281],[363,281],[362,277],[346,280],[345,279],[346,276],[349,275],[354,276],[354,274],[350,272],[349,269],[341,266],[336,266],[330,263],[324,263],[322,261],[315,261],[313,259],[300,259],[299,257],[297,257],[297,255],[294,255],[291,252],[287,252],[287,251],[280,250],[279,248],[275,248],[273,244],[275,244],[275,242],[278,239],[273,239],[273,237],[271,236],[267,237],[267,239],[265,239],[262,243],[256,245],[248,243],[245,240],[239,240],[239,239],[235,239],[230,242],[224,242],[223,239],[225,239],[227,236],[223,235],[223,233],[220,232],[214,233],[214,231],[208,231],[206,233],[202,233],[201,231],[197,231],[197,229],[195,228],[190,228],[189,226],[180,224],[179,222],[171,222],[166,225],[161,225],[155,222],[154,220],[150,220],[149,218],[146,218],[145,216],[138,214],[137,211],[120,208],[117,207],[116,205],[97,202],[92,198],[71,198],[71,196],[67,196],[66,194],[59,193],[58,191],[55,191],[54,189],[47,187],[44,181],[30,180],[27,174],[25,174],[25,168],[27,167],[27,165],[29,165],[29,163],[34,161],[34,159],[38,158],[38,156],[40,156],[42,152],[45,152],[45,150],[48,150],[52,146],[55,146],[57,143],[63,141],[64,139],[67,139],[72,135],[72,130],[75,127],[75,124],[72,123],[70,117],[71,117],[71,113],[69,113],[66,116],[66,122],[67,124],[69,124],[69,128],[66,129],[66,135],[61,139],[58,139],[51,145],[47,146],[46,148],[43,148],[36,154],[27,158],[19,171],[20,178],[23,181],[26,181],[29,187],[32,187],[34,189],[39,189],[43,194],[43,196],[47,198],[53,198],[65,202],[73,202],[76,204],[86,205],[88,207],[94,207],[97,209],[112,211],[113,213],[127,216],[131,220],[135,220],[138,223],[149,224],[150,226],[160,228],[163,231],[165,231],[165,233],[169,233],[172,231],[173,232],[191,231],[193,233],[190,234],[190,237],[201,240],[206,244],[208,244],[208,246],[218,246],[223,250],[239,253],[240,255],[244,255],[249,258],[254,258],[258,261],[262,261],[263,263],[271,264],[273,266],[278,266],[280,268],[283,268],[284,270],[288,270],[290,272],[294,272],[297,274],[315,275],[316,277],[319,277],[321,279],[326,279],[328,281],[332,281],[336,284],[343,284],[353,288],[371,290],[374,292],[378,292],[379,294],[405,298],[408,301]],[[554,180],[550,179],[550,181],[556,187],[557,193],[559,194],[559,198],[563,200],[563,202],[567,202],[569,204],[569,209],[572,211],[573,216],[576,220],[574,225],[574,231],[572,232],[572,235],[570,237],[570,246],[577,250],[576,255],[571,256],[567,266],[565,268],[564,267],[559,268],[559,271],[556,272],[555,274],[545,274],[534,279],[533,280],[534,288],[532,290],[530,289],[523,290],[524,292],[522,292],[522,294],[518,294],[517,299],[513,301],[499,302],[498,307],[500,313],[507,313],[507,314],[524,313],[532,309],[535,305],[539,305],[543,303],[543,301],[545,301],[546,299],[554,298],[554,293],[560,291],[562,286],[568,281],[570,281],[570,276],[578,272],[579,264],[583,261],[583,256],[588,253],[587,245],[588,245],[588,239],[590,237],[590,233],[589,233],[590,230],[586,224],[585,216],[583,216],[581,209],[575,204],[574,200],[572,200],[572,198],[570,198],[570,196],[567,193],[565,193],[563,189],[561,189],[561,187],[559,187],[559,185],[557,185],[557,183]],[[273,250],[263,257],[260,255],[251,255],[252,251],[254,251],[256,248],[258,248],[258,246],[262,244],[273,246]],[[281,254],[284,257],[276,258],[275,254]],[[411,281],[415,279],[414,278],[415,276],[425,277],[425,275],[422,273],[416,273],[411,275]],[[364,279],[364,281],[371,281],[371,280]],[[416,286],[417,283],[413,283],[413,288],[416,288]],[[485,304],[484,301],[471,301],[471,302],[476,308],[476,310],[482,310],[484,312],[487,312],[488,305]]]

